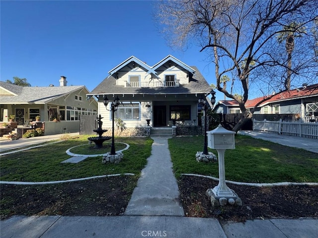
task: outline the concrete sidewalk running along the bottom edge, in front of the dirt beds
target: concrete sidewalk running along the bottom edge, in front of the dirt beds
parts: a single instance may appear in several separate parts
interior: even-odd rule
[[[251,220],[221,226],[212,218],[169,216],[14,216],[1,238],[317,238],[317,219]]]

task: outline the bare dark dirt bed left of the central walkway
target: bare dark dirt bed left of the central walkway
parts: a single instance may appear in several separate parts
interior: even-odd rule
[[[137,178],[89,179],[46,185],[1,184],[1,219],[12,215],[123,215]]]

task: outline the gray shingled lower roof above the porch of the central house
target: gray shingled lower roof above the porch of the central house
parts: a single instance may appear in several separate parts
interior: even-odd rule
[[[123,87],[116,85],[116,78],[113,76],[105,78],[96,88],[87,95],[103,95],[103,94],[194,94],[194,93],[211,93],[211,86],[199,72],[195,66],[191,66],[195,70],[195,75],[186,85],[179,87]]]

